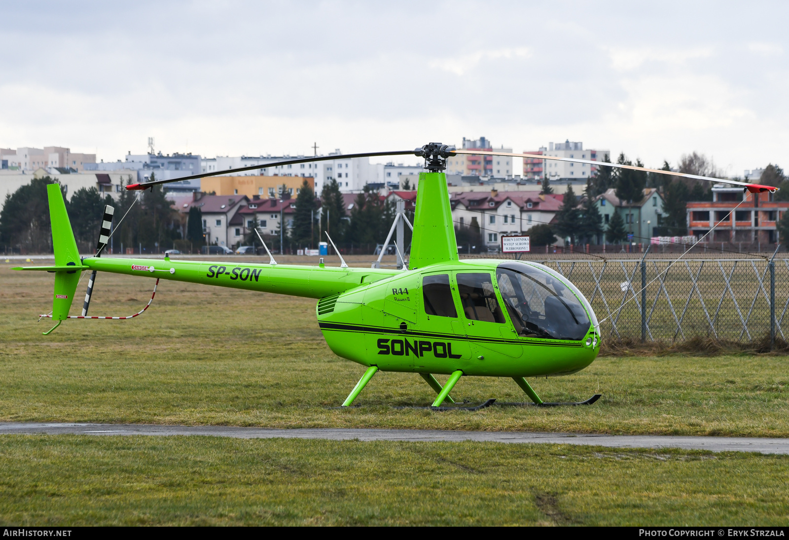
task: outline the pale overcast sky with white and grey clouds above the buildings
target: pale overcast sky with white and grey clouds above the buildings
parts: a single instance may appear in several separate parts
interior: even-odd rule
[[[0,147],[107,161],[149,136],[211,157],[484,136],[789,167],[789,4],[645,4],[0,1]]]

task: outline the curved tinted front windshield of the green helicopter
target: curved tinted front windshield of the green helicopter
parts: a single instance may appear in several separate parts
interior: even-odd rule
[[[585,298],[548,268],[511,261],[499,264],[496,280],[518,335],[578,340],[589,332]]]

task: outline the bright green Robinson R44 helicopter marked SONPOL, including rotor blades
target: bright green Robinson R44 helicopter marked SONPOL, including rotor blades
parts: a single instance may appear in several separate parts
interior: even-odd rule
[[[406,154],[423,157],[427,172],[419,176],[411,253],[409,264],[402,270],[350,268],[342,255],[339,267],[328,267],[323,262],[318,266],[277,264],[267,247],[268,264],[171,261],[169,257],[158,261],[101,257],[109,242],[111,207],[105,211],[95,257],[83,258],[77,251],[57,184],[47,186],[54,265],[13,269],[54,272],[52,312],[43,317],[58,322],[44,332],[45,335],[68,318],[131,318],[88,317],[96,272],[148,276],[156,278],[156,283],[159,279],[170,279],[290,294],[316,298],[316,317],[328,346],[338,356],[366,368],[342,403],[344,407],[353,403],[377,371],[419,373],[438,394],[432,407],[441,407],[444,401],[454,403],[449,394],[462,376],[511,377],[533,403],[557,405],[560,403],[544,403],[525,377],[567,375],[589,366],[600,351],[600,324],[578,287],[551,268],[530,261],[459,259],[447,178],[443,173],[448,157],[473,154],[553,159],[723,182],[742,186],[751,193],[776,190],[772,186],[645,167],[554,156],[458,150],[439,143],[425,144],[416,150],[351,154],[343,158]],[[266,167],[335,157],[288,159],[269,163]],[[260,168],[256,165],[156,180],[131,184],[125,189],[142,190],[167,182]],[[263,238],[260,241],[263,242]],[[92,276],[82,314],[69,316],[80,272],[86,270],[92,271]],[[449,376],[443,387],[436,381],[436,373]],[[566,404],[591,404],[599,397],[596,394],[585,401]]]

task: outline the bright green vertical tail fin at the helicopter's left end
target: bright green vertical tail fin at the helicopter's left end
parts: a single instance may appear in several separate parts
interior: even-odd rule
[[[69,215],[65,212],[65,201],[59,184],[47,186],[50,204],[50,223],[52,225],[52,247],[55,266],[82,266],[77,240],[71,230]],[[74,292],[80,281],[80,270],[58,271],[54,273],[54,293],[52,295],[52,318],[63,321],[69,316]]]

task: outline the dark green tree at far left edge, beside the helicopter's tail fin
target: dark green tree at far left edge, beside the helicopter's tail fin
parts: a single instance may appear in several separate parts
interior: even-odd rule
[[[6,195],[0,212],[2,245],[34,253],[52,252],[47,186],[54,183],[48,176],[33,178],[27,186]],[[61,191],[65,198],[65,189]]]

